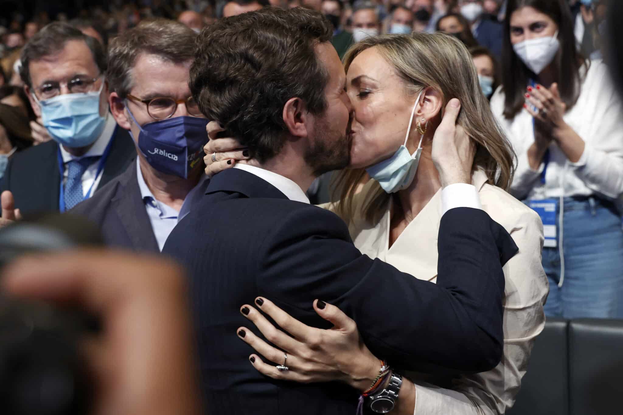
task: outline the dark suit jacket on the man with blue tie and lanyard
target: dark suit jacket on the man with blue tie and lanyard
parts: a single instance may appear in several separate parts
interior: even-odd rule
[[[113,133],[113,144],[104,170],[99,189],[121,174],[136,157],[134,142],[130,134],[117,126]],[[60,173],[57,152],[59,144],[48,141],[24,151],[11,158],[6,168],[0,190],[11,190],[15,207],[24,213],[59,210]]]

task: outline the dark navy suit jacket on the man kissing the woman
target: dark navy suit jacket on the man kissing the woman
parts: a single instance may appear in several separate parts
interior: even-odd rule
[[[313,300],[337,305],[370,350],[395,367],[479,372],[497,365],[502,263],[516,245],[487,213],[470,208],[446,213],[439,234],[434,284],[362,255],[328,210],[288,200],[249,172],[214,176],[163,249],[189,272],[207,413],[355,412],[358,394],[346,385],[275,381],[250,365],[254,350],[236,331],[244,325],[260,335],[239,312],[257,296],[323,328],[330,324]]]

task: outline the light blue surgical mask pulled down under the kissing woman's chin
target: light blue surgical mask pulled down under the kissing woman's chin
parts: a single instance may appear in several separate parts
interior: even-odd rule
[[[389,159],[374,164],[374,166],[370,166],[366,169],[370,177],[379,182],[383,190],[387,193],[396,193],[399,190],[406,189],[409,187],[414,177],[416,177],[417,165],[420,162],[420,156],[422,154],[422,139],[424,139],[424,135],[420,136],[417,150],[413,154],[409,154],[409,150],[407,150],[407,141],[409,140],[409,133],[411,133],[413,115],[416,113],[416,107],[420,102],[422,92],[417,96],[416,103],[413,105],[404,144],[402,144]]]

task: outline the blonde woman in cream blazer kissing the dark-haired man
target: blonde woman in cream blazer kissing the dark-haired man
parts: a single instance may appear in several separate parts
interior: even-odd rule
[[[361,252],[417,278],[435,281],[443,201],[431,151],[442,109],[450,98],[459,98],[457,123],[477,147],[472,183],[482,208],[504,226],[519,247],[519,253],[503,268],[505,347],[500,364],[454,381],[450,381],[451,374],[427,379],[436,386],[414,375],[415,393],[412,383],[406,381],[393,413],[502,414],[514,402],[533,341],[545,324],[548,282],[541,266],[540,218],[505,191],[512,180],[513,152],[480,90],[472,57],[448,35],[413,34],[365,39],[347,52],[344,61],[346,90],[353,105],[351,169],[338,178],[340,202],[326,208],[348,223]],[[211,138],[219,130],[211,124]],[[212,163],[212,151],[223,149],[228,142],[216,139],[207,144],[208,174],[246,158],[244,149],[236,151],[234,144],[230,147],[234,151],[218,154],[220,161]],[[357,193],[357,184],[366,172],[373,180]],[[275,327],[257,309],[242,305],[243,314],[277,347],[250,330],[240,337],[259,353],[250,360],[265,375],[303,382],[344,380],[361,373],[358,364],[369,361],[368,349],[357,347],[360,340],[353,320],[336,307],[315,302],[316,312],[335,325],[320,330],[292,319],[269,299],[261,303],[262,312],[296,339],[292,342],[292,337],[275,335]],[[306,344],[303,338],[313,340]],[[278,371],[260,357],[282,364],[280,350],[288,353],[288,362],[299,362],[297,367]]]

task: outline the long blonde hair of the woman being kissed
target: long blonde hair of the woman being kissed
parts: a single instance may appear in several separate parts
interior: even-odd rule
[[[493,118],[487,98],[480,90],[472,56],[465,46],[439,32],[368,37],[346,52],[346,72],[354,58],[370,47],[376,47],[394,67],[412,95],[427,87],[434,88],[443,97],[442,111],[450,99],[459,98],[461,111],[457,124],[477,143],[472,169],[480,167],[487,174],[489,184],[508,190],[513,179],[515,153]],[[333,198],[339,195],[341,202],[337,213],[342,218],[354,217],[353,198],[365,174],[364,169],[346,169],[336,177]],[[374,223],[390,198],[391,194],[377,184],[376,191],[370,192],[363,201],[361,216],[368,223]]]

